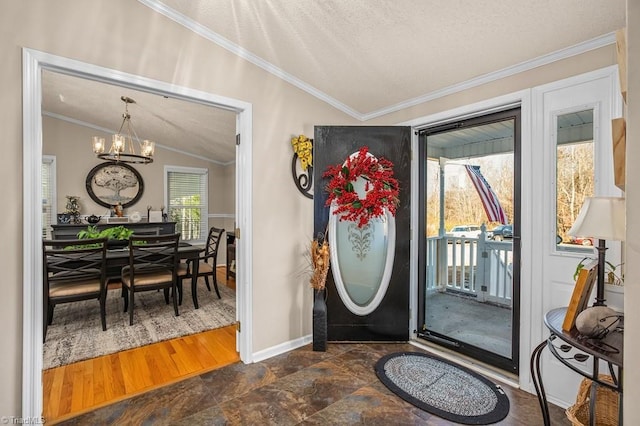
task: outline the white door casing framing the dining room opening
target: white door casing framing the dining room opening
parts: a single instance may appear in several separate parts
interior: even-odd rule
[[[42,413],[42,350],[43,350],[43,294],[42,294],[42,73],[51,70],[68,75],[101,81],[131,89],[172,96],[177,99],[224,108],[236,112],[236,129],[242,144],[236,144],[236,158],[243,164],[242,173],[236,167],[235,218],[243,229],[243,241],[237,244],[236,297],[237,319],[246,324],[237,334],[240,359],[251,362],[252,335],[249,307],[251,302],[251,224],[250,200],[252,180],[252,106],[249,103],[211,93],[147,79],[117,70],[98,67],[68,58],[31,49],[23,50],[24,104],[24,228],[23,228],[23,362],[22,407],[25,416]]]

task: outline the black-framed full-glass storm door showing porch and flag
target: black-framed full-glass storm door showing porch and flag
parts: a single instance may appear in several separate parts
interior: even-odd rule
[[[518,374],[520,108],[419,132],[418,337]]]

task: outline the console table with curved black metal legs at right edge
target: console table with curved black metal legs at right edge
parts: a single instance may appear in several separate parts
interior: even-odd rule
[[[547,397],[542,384],[542,372],[540,370],[540,356],[544,348],[549,348],[549,352],[564,366],[575,371],[583,377],[592,381],[591,394],[589,397],[590,424],[595,425],[596,416],[594,415],[596,390],[598,386],[605,386],[618,392],[618,424],[622,425],[622,352],[623,352],[623,333],[617,330],[611,330],[602,339],[590,339],[580,335],[574,327],[571,331],[564,331],[562,323],[564,321],[567,308],[558,308],[547,312],[544,317],[544,324],[550,331],[549,337],[540,343],[531,354],[531,377],[538,395],[538,402],[542,410],[542,417],[545,426],[549,426],[549,406]],[[591,371],[583,371],[571,364],[567,358],[567,353],[571,349],[582,352],[581,361],[591,358],[593,367]],[[580,354],[574,355],[580,357]],[[601,380],[599,375],[600,361],[607,364],[609,374],[613,379],[613,384]]]

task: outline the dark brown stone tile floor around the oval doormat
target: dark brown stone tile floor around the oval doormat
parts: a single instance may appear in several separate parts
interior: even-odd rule
[[[409,344],[311,345],[255,364],[233,364],[83,414],[68,425],[452,425],[404,402],[376,377],[387,353]],[[502,385],[510,412],[500,425],[541,425],[535,395]],[[551,406],[551,424],[570,425]]]

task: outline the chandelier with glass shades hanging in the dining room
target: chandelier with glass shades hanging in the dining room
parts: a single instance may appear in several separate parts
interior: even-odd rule
[[[100,136],[94,136],[93,152],[98,158],[115,163],[152,163],[155,144],[146,139],[140,142],[131,123],[131,115],[129,114],[128,107],[129,104],[135,104],[136,101],[126,96],[121,96],[120,99],[124,102],[124,114],[122,114],[122,124],[120,125],[118,133],[111,138],[111,148],[109,148],[108,152],[105,152],[105,139]],[[134,138],[140,154],[136,154]]]

